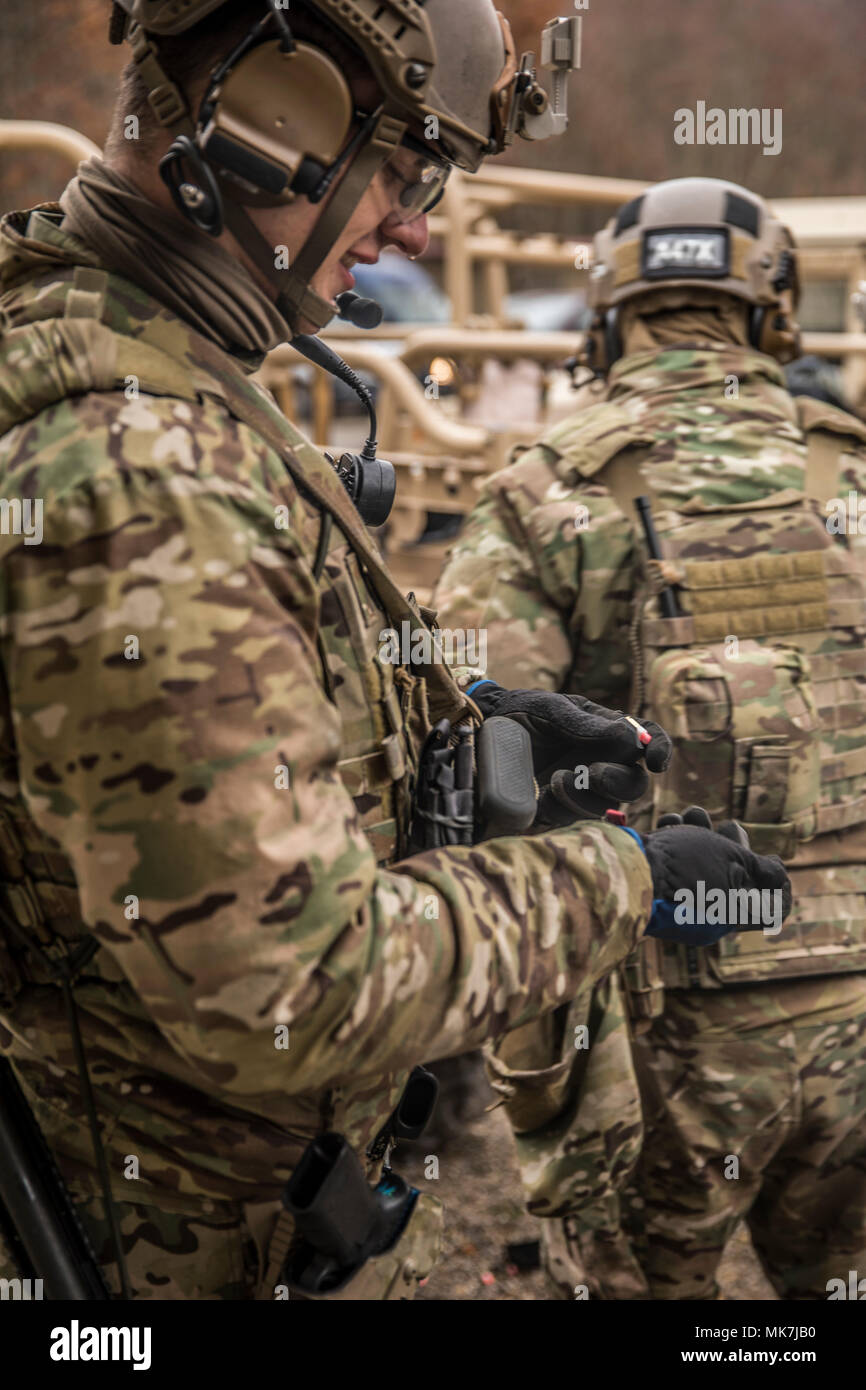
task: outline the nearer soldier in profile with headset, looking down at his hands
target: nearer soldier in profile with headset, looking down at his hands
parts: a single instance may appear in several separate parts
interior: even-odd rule
[[[418,253],[450,165],[500,146],[507,25],[489,0],[316,0],[291,28],[252,0],[124,0],[113,36],[135,68],[107,161],[0,228],[0,488],[43,509],[42,537],[3,535],[0,1045],[115,1293],[268,1298],[311,1137],[343,1134],[374,1182],[410,1068],[607,974],[652,856],[577,824],[407,858],[431,721],[478,710],[435,656],[381,659],[424,619],[250,379],[332,316],[349,264]],[[581,727],[614,760],[628,735],[634,790],[669,756],[619,716]],[[335,1297],[411,1297],[439,1226],[420,1195]]]

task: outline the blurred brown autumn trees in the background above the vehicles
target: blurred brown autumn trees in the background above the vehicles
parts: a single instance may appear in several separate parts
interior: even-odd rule
[[[544,22],[557,7],[573,13],[574,0],[498,3],[520,51],[538,50]],[[0,115],[60,121],[101,143],[125,63],[107,43],[107,0],[4,8]],[[645,179],[708,174],[769,196],[863,192],[865,0],[589,0],[582,13],[569,133],[517,142],[506,163]],[[781,153],[676,145],[674,111],[698,100],[780,107]],[[56,197],[70,172],[63,160],[0,153],[0,208]]]

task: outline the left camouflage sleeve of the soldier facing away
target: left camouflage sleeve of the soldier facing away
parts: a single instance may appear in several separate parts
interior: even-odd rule
[[[432,606],[443,628],[478,632],[474,646],[487,649],[487,673],[502,685],[621,705],[631,528],[606,488],[562,481],[555,460],[539,445],[488,480]]]

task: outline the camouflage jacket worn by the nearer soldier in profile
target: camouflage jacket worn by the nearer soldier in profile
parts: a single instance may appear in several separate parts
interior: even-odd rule
[[[135,1201],[270,1201],[311,1134],[366,1150],[414,1063],[607,974],[646,862],[602,826],[400,858],[420,741],[467,706],[379,660],[421,620],[334,470],[53,206],[4,220],[0,286],[4,913],[51,959],[99,942],[115,1195],[136,1155]],[[0,1045],[96,1191],[61,994],[17,941]]]

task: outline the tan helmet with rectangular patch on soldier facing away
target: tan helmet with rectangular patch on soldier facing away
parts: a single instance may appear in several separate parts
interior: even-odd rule
[[[674,286],[744,300],[752,346],[781,363],[798,356],[795,242],[756,193],[724,179],[678,178],[620,207],[594,243],[587,366],[603,375],[621,356],[621,304]]]

